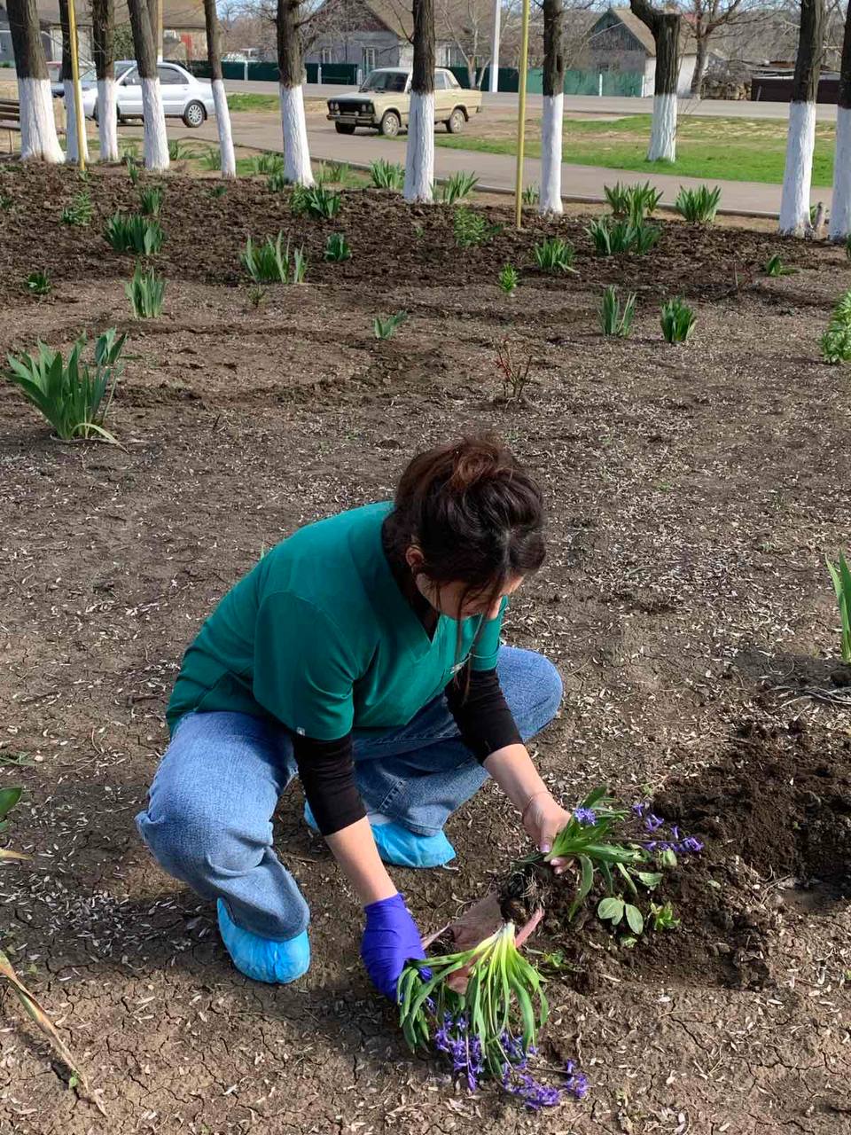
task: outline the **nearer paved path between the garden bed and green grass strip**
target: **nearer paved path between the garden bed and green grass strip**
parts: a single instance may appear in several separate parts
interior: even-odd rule
[[[217,140],[214,123],[205,123],[196,131],[186,129],[177,123],[172,126],[171,123],[172,120],[169,120],[169,135],[172,137]],[[277,116],[253,112],[235,114],[233,129],[234,141],[237,144],[254,146],[259,150],[280,151],[283,149],[280,123]],[[141,136],[141,127],[138,133]],[[326,121],[320,115],[307,116],[307,138],[311,157],[314,160],[347,161],[355,167],[365,167],[377,158],[387,158],[389,161],[398,162],[405,160],[404,137],[391,141],[378,137],[376,134],[337,134],[332,124]],[[474,170],[479,175],[482,188],[492,188],[497,192],[514,190],[514,158],[508,154],[480,153],[436,146],[436,176],[445,178],[456,170]],[[671,174],[634,174],[627,170],[568,163],[562,167],[562,192],[565,200],[603,201],[605,200],[604,185],[612,185],[617,180],[630,184],[649,180],[662,190],[662,200],[665,204],[673,204],[681,185],[696,187],[705,184],[701,178],[672,176]],[[540,161],[530,158],[524,163],[524,184],[533,182],[540,182]],[[724,212],[750,213],[760,217],[776,217],[780,212],[780,185],[715,179],[713,179],[713,184],[722,187],[722,210]],[[824,201],[825,205],[829,208],[831,191],[826,188],[814,190],[812,201],[814,203]]]

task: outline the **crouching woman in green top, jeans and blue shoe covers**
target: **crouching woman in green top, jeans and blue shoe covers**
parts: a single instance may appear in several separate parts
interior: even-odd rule
[[[419,931],[385,864],[454,858],[449,815],[488,776],[542,850],[567,819],[524,741],[562,696],[550,662],[499,645],[508,596],[544,561],[541,495],[503,446],[411,461],[393,504],[307,524],[224,597],[186,651],[171,741],[138,830],[162,867],[216,900],[248,977],[310,965],[310,911],[272,849],[301,777],[365,910],[361,956],[395,999]]]

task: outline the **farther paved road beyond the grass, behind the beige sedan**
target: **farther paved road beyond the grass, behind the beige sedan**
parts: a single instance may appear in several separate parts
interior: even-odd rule
[[[277,94],[277,83],[243,83],[237,79],[227,79],[225,87],[228,91],[254,92],[255,94]],[[352,86],[331,86],[329,84],[309,84],[304,87],[307,98],[328,99],[332,94],[344,94],[353,91]],[[516,109],[516,94],[500,92],[490,94],[485,92],[483,106],[498,109],[503,112]],[[541,95],[528,95],[528,106],[532,110],[540,110]],[[681,99],[681,115],[694,115],[699,118],[789,118],[787,102],[732,102],[723,99]],[[597,99],[590,94],[576,94],[564,96],[565,114],[583,115],[649,115],[652,111],[652,99],[621,99],[603,98]],[[836,107],[828,103],[817,103],[816,118],[819,121],[836,121]]]

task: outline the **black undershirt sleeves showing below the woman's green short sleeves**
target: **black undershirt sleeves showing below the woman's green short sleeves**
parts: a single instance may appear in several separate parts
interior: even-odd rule
[[[516,745],[520,733],[505,700],[496,670],[474,670],[470,683],[454,680],[444,693],[461,739],[479,762],[506,745]],[[366,815],[357,791],[352,734],[334,741],[293,735],[295,760],[313,816],[323,835],[348,827]]]

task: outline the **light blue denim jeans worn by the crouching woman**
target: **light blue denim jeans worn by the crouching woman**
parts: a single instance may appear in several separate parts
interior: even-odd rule
[[[502,647],[497,665],[523,740],[562,699],[540,654]],[[420,835],[439,832],[487,773],[458,735],[440,695],[399,729],[354,731],[355,777],[370,812]],[[272,849],[272,814],[295,776],[284,725],[242,713],[191,713],[177,725],[136,816],[160,866],[200,896],[224,899],[244,930],[287,941],[306,928],[307,903]]]

